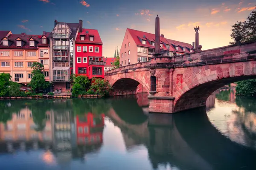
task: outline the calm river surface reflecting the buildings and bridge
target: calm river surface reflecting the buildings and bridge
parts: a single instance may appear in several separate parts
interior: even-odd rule
[[[166,115],[147,96],[0,101],[0,170],[256,169],[256,99]]]

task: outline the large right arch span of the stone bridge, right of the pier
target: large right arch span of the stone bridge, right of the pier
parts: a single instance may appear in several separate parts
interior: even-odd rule
[[[184,74],[176,74],[182,73]],[[194,72],[195,74],[191,74]],[[173,112],[206,105],[206,100],[218,88],[233,82],[256,78],[256,62],[237,62],[180,68],[174,73]],[[188,73],[188,75],[186,75]]]

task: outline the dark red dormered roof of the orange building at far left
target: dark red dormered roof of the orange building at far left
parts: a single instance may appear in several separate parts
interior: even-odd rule
[[[49,47],[49,40],[47,38],[47,44],[43,44],[42,43],[42,37],[48,37],[49,36],[49,32],[45,33],[45,35],[30,35],[30,34],[10,34],[8,37],[6,37],[10,42],[11,45],[9,45],[8,47],[3,46],[3,43],[0,44],[0,48],[15,48],[15,49],[37,49],[38,46],[40,47]],[[3,37],[4,38],[4,37]],[[2,39],[3,39],[2,38]],[[22,40],[24,42],[24,44],[22,45],[22,47],[17,47],[16,46],[16,39],[20,38],[20,40]],[[35,47],[30,47],[29,46],[29,40],[30,39],[35,40]]]

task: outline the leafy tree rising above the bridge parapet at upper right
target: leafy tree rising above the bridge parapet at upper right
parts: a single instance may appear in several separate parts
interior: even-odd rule
[[[249,42],[256,40],[256,10],[253,10],[244,22],[237,21],[232,27],[230,36],[235,40],[235,37],[240,35],[241,42]],[[234,44],[234,42],[230,42]]]

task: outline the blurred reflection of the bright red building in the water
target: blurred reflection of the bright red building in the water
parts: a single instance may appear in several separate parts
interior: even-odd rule
[[[76,132],[78,144],[102,143],[104,128],[104,114],[94,115],[87,113],[76,116]]]

